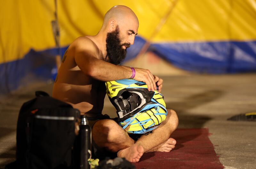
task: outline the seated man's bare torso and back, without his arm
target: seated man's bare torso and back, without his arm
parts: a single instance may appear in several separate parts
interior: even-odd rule
[[[79,45],[86,45],[84,41],[91,40],[90,36],[77,38],[67,49],[63,55],[62,64],[58,71],[53,86],[53,97],[68,102],[74,108],[79,109],[81,113],[87,116],[100,114],[103,109],[104,98],[106,95],[105,84],[102,81],[96,80],[89,75],[84,74],[77,66],[75,61],[75,50]],[[98,58],[102,57],[98,47],[94,47],[92,51]]]

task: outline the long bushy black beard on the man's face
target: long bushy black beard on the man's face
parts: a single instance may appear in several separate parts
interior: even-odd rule
[[[126,57],[126,49],[123,49],[122,46],[129,47],[130,44],[120,44],[121,40],[119,37],[119,26],[116,26],[116,30],[113,32],[108,32],[106,38],[106,47],[107,47],[107,57],[108,62],[119,65]]]

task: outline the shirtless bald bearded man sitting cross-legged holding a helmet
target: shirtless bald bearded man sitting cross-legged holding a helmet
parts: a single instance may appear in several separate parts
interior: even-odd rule
[[[105,81],[128,79],[132,69],[119,66],[126,48],[133,45],[139,21],[134,12],[122,5],[112,7],[105,15],[100,32],[95,36],[77,38],[68,47],[54,82],[53,97],[71,104],[89,117],[96,117],[103,109],[106,95]],[[148,90],[161,91],[163,80],[147,69],[135,68],[133,79],[143,81]],[[144,152],[171,151],[176,144],[170,138],[177,128],[178,117],[168,110],[165,121],[153,133],[142,135],[136,142],[114,120],[94,123],[92,138],[98,147],[117,152],[117,156],[138,162]]]

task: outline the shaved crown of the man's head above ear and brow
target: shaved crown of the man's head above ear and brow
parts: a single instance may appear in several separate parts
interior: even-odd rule
[[[117,25],[123,25],[127,23],[138,24],[139,20],[135,13],[127,6],[116,5],[110,8],[104,16],[104,21],[102,27],[106,27],[110,20],[116,21]]]

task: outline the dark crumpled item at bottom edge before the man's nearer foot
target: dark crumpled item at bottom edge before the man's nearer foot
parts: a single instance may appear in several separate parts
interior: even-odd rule
[[[136,169],[135,166],[125,158],[116,157],[115,159],[106,158],[100,161],[99,166],[95,169]]]

